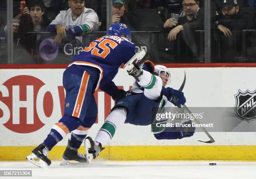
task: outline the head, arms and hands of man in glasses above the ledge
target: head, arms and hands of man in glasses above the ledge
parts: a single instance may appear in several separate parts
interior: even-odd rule
[[[168,35],[169,40],[176,40],[177,34],[183,30],[195,31],[203,30],[204,24],[204,12],[199,7],[198,0],[183,0],[182,2],[184,13],[183,17],[178,18],[177,26],[174,27],[172,19],[164,23],[164,27],[169,29],[174,27]]]

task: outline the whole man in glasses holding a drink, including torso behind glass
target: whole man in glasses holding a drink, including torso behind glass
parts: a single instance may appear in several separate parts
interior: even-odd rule
[[[199,7],[199,0],[183,0],[182,7],[185,16],[179,16],[177,25],[166,21],[164,27],[169,31],[167,39],[174,41],[172,43],[174,49],[175,62],[202,62],[199,57],[200,50],[198,44],[198,34],[195,30],[204,30],[204,10]],[[200,60],[201,59],[201,60]],[[198,60],[198,61],[197,61]]]

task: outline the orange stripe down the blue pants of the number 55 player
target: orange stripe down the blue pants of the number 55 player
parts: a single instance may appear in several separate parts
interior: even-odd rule
[[[79,117],[79,115],[80,115],[82,103],[84,101],[85,92],[87,90],[89,77],[90,77],[89,73],[84,72],[84,75],[83,75],[82,80],[81,80],[81,85],[80,85],[80,89],[79,89],[79,92],[78,92],[78,96],[77,96],[77,102],[76,102],[76,105],[74,107],[74,112],[73,112],[74,117]]]

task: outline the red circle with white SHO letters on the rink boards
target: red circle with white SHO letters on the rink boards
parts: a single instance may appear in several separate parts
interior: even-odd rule
[[[64,102],[64,89],[56,88],[59,93],[56,103],[60,107],[60,101]],[[54,103],[52,91],[49,92],[38,78],[29,75],[12,77],[0,85],[0,124],[17,133],[35,132],[49,121]]]

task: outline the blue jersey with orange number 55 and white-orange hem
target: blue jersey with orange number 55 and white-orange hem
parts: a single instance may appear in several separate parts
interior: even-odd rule
[[[100,70],[97,88],[108,85],[118,73],[122,63],[135,55],[135,45],[123,37],[105,35],[90,43],[73,58],[70,65],[87,65]],[[70,66],[69,65],[69,66]]]

